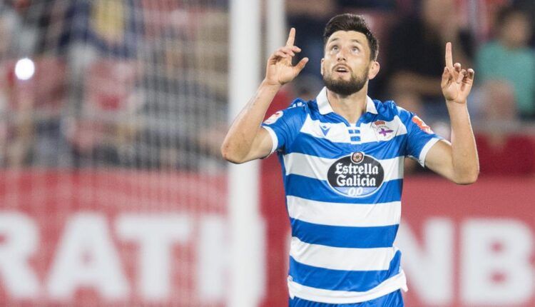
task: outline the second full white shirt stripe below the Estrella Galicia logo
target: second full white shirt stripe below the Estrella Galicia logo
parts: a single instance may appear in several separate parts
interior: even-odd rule
[[[343,271],[388,270],[397,248],[342,248],[305,243],[292,237],[290,256],[299,263]]]

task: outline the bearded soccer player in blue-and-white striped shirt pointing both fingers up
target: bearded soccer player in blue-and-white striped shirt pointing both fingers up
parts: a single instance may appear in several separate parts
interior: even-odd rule
[[[379,73],[377,39],[362,16],[342,14],[325,27],[325,88],[315,100],[297,99],[262,124],[277,91],[308,61],[292,66],[301,51],[294,39],[291,29],[286,46],[267,60],[265,79],[230,126],[221,152],[243,163],[277,151],[292,227],[290,306],[403,306],[406,279],[393,242],[404,157],[455,183],[477,180],[467,111],[474,71],[454,64],[446,44],[441,86],[452,125],[449,143],[393,101],[367,96],[368,81]]]

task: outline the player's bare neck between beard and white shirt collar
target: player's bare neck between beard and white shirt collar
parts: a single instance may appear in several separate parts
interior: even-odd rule
[[[327,89],[327,100],[332,107],[332,111],[342,116],[344,119],[355,124],[366,111],[367,84],[350,96],[343,96]]]

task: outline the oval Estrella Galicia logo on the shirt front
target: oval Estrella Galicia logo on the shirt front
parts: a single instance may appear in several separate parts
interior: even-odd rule
[[[332,163],[327,181],[333,190],[344,196],[365,197],[382,186],[384,169],[374,157],[357,151]]]

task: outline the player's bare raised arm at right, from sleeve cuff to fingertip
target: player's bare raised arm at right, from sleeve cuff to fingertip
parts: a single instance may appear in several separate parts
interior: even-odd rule
[[[474,183],[479,175],[476,141],[470,124],[467,97],[474,83],[474,70],[453,64],[452,44],[446,44],[446,67],[442,74],[442,94],[452,125],[452,143],[439,141],[425,158],[432,171],[459,184]]]

